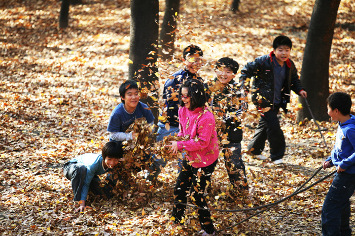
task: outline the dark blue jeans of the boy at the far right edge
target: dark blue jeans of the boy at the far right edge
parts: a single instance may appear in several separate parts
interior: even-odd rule
[[[355,191],[355,174],[336,173],[322,208],[324,236],[351,235],[350,197]]]

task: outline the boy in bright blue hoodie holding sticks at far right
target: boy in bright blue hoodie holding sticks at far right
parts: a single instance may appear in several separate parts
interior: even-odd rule
[[[322,208],[323,235],[351,235],[350,197],[355,191],[355,116],[350,114],[351,98],[335,92],[328,99],[328,115],[338,121],[335,145],[323,169],[335,165],[337,173]]]

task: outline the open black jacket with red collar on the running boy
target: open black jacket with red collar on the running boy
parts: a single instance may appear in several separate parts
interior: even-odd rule
[[[247,63],[241,70],[239,79],[246,81],[247,78],[254,78],[252,88],[252,102],[255,106],[273,109],[275,100],[275,76],[274,63],[272,61],[273,52],[255,59],[254,62]],[[286,79],[281,90],[281,108],[287,112],[286,105],[290,103],[291,90],[298,95],[303,87],[298,78],[297,69],[292,60],[286,61]]]

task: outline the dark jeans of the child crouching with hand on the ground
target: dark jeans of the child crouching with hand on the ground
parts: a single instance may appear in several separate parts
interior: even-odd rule
[[[74,193],[74,201],[80,201],[81,190],[86,176],[86,166],[77,162],[67,162],[63,167],[65,177],[72,181],[72,188]],[[100,178],[95,175],[90,182],[89,191],[94,195],[99,195],[111,198],[110,188],[108,186],[101,187]]]

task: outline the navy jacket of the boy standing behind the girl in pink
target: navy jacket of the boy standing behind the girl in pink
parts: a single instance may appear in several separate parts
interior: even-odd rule
[[[163,89],[163,99],[165,100],[167,121],[163,124],[169,123],[170,126],[179,127],[179,88],[180,85],[189,79],[198,79],[203,82],[198,74],[192,74],[188,70],[181,69],[172,74],[172,79],[167,79]]]

